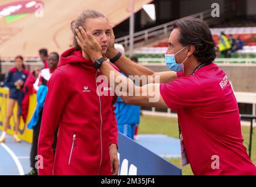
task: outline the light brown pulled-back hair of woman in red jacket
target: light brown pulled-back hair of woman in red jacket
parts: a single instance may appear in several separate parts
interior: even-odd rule
[[[72,22],[70,24],[70,28],[71,28],[71,30],[74,34],[74,36],[73,36],[73,46],[76,47],[76,50],[80,50],[80,46],[79,46],[78,42],[76,41],[76,31],[75,31],[75,29],[78,29],[79,26],[84,27],[86,19],[90,19],[90,18],[106,18],[106,17],[105,17],[105,15],[103,15],[103,13],[97,12],[95,10],[87,9],[87,10],[83,11],[78,16],[78,18],[76,18],[76,20],[72,20]]]

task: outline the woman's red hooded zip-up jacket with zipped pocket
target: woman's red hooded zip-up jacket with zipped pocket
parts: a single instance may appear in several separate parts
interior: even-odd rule
[[[38,155],[43,162],[38,161],[39,175],[111,175],[109,145],[117,145],[118,133],[113,112],[116,96],[110,96],[107,79],[105,85],[101,84],[102,74],[92,61],[82,57],[81,51],[66,50],[58,66],[48,82],[43,109],[38,139]]]

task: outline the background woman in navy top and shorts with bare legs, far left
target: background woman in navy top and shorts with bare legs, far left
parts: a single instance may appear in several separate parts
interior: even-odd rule
[[[28,73],[29,72],[25,70],[25,65],[23,64],[23,57],[15,57],[15,67],[9,70],[8,74],[6,74],[6,78],[4,81],[4,85],[9,88],[9,102],[4,122],[4,131],[2,132],[2,136],[0,137],[0,143],[5,142],[6,129],[9,127],[10,118],[12,116],[12,112],[14,110],[16,102],[18,102],[16,114],[17,120],[15,123],[15,134],[13,140],[15,142],[21,141],[21,139],[18,137],[18,131],[21,117],[21,103],[24,97],[24,92],[22,91],[22,88],[24,82],[26,81],[26,78],[28,77]]]

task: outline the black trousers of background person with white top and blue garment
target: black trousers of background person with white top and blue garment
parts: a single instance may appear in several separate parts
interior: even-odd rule
[[[38,137],[39,137],[40,128],[41,128],[42,114],[43,114],[43,110],[40,112],[38,123],[33,128],[33,140],[32,140],[32,147],[31,147],[31,154],[30,154],[30,162],[31,162],[31,167],[35,171],[37,171],[35,164],[38,160],[36,160],[35,158],[36,158],[36,155],[38,155]],[[55,131],[55,138],[54,138],[54,141],[52,144],[53,157],[55,154],[55,148],[56,148],[56,144],[57,144],[57,136],[58,136],[58,128]]]

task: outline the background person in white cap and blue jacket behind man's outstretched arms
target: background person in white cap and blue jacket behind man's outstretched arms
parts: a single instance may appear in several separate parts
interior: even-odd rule
[[[124,54],[124,47],[122,44],[114,44],[114,47]],[[122,71],[120,71],[125,75]],[[127,75],[125,75],[127,77]],[[134,140],[134,132],[137,124],[140,123],[140,106],[127,105],[123,99],[118,97],[114,104],[116,109],[117,129],[120,133]]]

